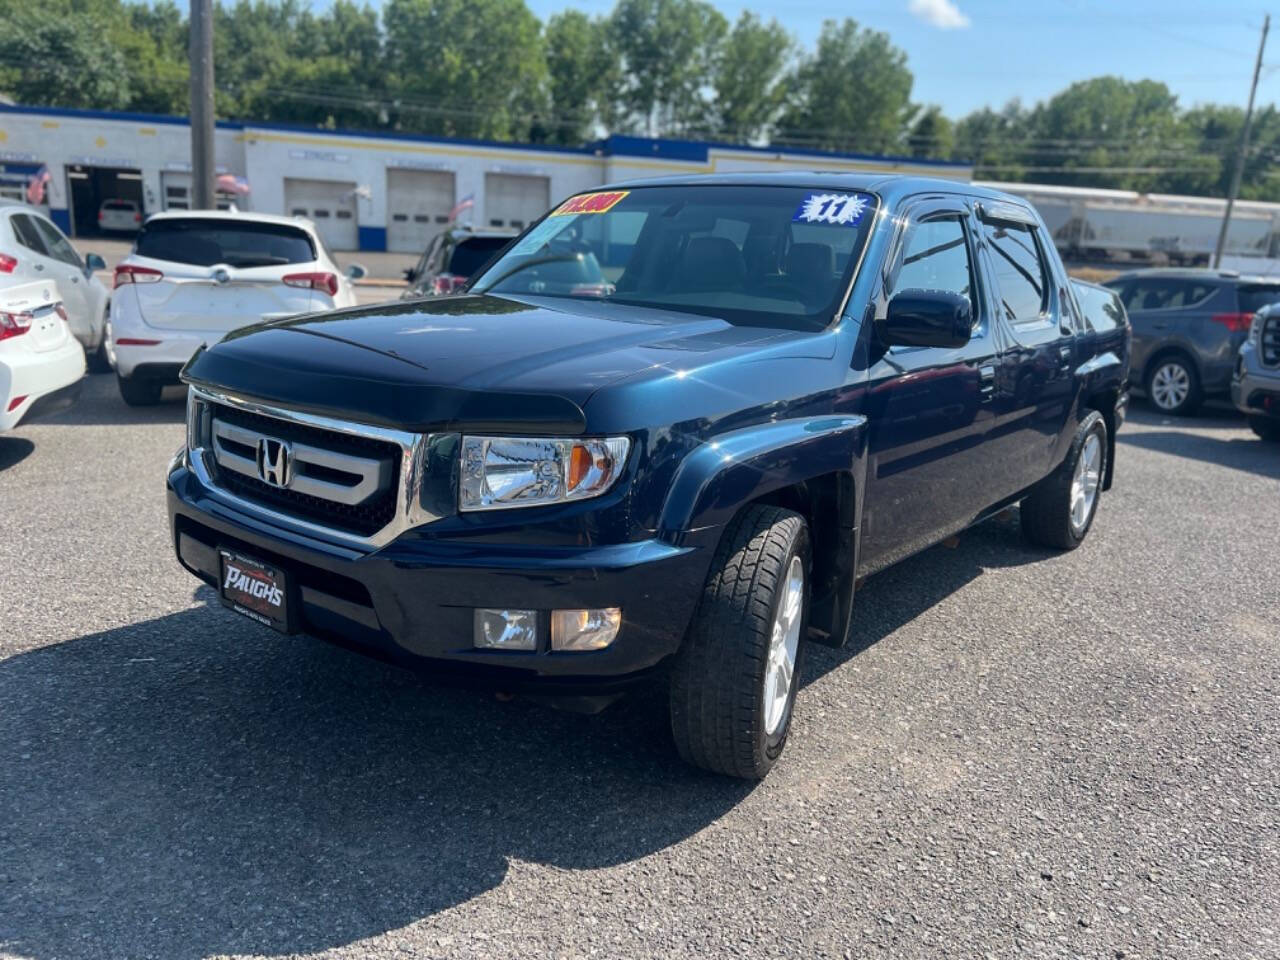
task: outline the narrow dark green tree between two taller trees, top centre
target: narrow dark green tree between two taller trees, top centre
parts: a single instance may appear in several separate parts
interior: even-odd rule
[[[605,50],[605,26],[580,10],[547,20],[547,72],[550,84],[548,138],[581,143],[591,136],[605,91],[618,78]]]

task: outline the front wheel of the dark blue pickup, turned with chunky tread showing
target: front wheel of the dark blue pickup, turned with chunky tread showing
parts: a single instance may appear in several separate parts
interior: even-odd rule
[[[712,561],[671,672],[671,731],[689,763],[762,780],[791,728],[809,626],[809,527],[749,507]]]

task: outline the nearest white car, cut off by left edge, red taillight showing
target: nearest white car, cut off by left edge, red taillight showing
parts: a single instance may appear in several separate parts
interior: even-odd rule
[[[0,433],[74,401],[83,375],[84,351],[52,282],[0,289]]]

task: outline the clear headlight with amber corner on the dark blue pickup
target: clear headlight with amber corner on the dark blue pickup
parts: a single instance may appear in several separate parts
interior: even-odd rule
[[[631,440],[463,436],[458,509],[506,509],[599,497],[617,483]]]

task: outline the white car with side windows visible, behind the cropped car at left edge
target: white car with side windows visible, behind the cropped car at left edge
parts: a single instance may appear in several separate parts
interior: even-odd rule
[[[106,317],[111,292],[95,276],[106,262],[97,253],[81,257],[61,230],[36,207],[0,200],[0,291],[49,279],[67,311],[72,334],[93,370],[110,370]]]

